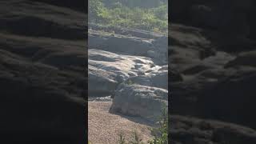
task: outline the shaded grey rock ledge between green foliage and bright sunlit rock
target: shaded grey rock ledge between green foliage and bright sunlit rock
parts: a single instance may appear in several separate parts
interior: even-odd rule
[[[149,57],[157,65],[166,65],[168,61],[168,39],[160,37],[154,40],[129,37],[125,35],[89,31],[89,49],[105,50],[117,54]]]

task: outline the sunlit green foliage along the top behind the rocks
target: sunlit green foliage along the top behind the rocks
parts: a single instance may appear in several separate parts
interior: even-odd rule
[[[144,8],[139,6],[130,6],[138,2],[142,2],[142,0],[138,2],[130,0],[90,0],[89,22],[104,26],[154,30],[155,32],[167,33],[167,3],[159,0],[153,1],[161,3],[158,3],[155,7]],[[132,4],[128,4],[130,2]]]

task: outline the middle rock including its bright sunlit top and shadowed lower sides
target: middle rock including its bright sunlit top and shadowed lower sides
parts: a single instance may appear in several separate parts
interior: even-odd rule
[[[146,86],[150,84],[145,82],[148,79],[152,86],[167,89],[167,71],[160,70],[162,66],[155,66],[150,58],[97,49],[88,52],[90,96],[113,96],[118,84],[128,78]]]

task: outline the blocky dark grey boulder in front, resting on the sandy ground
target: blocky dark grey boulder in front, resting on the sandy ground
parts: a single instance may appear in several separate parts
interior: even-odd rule
[[[114,94],[110,112],[138,116],[156,122],[166,108],[168,91],[156,87],[122,83]]]

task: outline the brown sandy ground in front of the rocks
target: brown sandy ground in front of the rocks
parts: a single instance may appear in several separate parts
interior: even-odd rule
[[[92,144],[118,143],[118,134],[123,133],[130,139],[136,130],[143,142],[152,138],[150,123],[141,118],[110,114],[111,102],[89,102],[89,141]],[[152,125],[151,125],[152,126]]]

